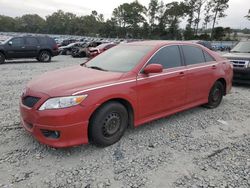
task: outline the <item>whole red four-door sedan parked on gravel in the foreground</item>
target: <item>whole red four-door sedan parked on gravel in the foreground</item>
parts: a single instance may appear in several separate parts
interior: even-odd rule
[[[128,126],[199,105],[217,107],[232,75],[228,60],[198,44],[121,44],[29,82],[20,100],[22,124],[53,147],[108,146]]]

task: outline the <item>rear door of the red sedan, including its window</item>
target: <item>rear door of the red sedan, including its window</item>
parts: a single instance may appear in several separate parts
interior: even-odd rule
[[[206,102],[214,82],[215,60],[198,46],[182,45],[187,67],[187,103]]]

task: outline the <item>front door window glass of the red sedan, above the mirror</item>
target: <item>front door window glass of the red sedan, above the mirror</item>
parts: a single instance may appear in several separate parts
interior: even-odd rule
[[[164,69],[180,67],[181,56],[178,46],[167,46],[158,51],[149,61],[149,64],[161,64]]]

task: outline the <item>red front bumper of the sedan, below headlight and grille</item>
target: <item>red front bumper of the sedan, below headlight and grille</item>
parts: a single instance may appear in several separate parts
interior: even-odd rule
[[[39,111],[28,108],[20,101],[23,127],[39,142],[55,147],[70,147],[88,143],[88,118],[83,106]],[[58,138],[44,135],[43,131],[57,131]]]

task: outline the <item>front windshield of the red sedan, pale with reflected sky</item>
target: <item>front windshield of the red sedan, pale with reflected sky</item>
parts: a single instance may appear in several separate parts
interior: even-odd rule
[[[119,45],[96,56],[86,67],[112,72],[131,71],[153,46]]]

